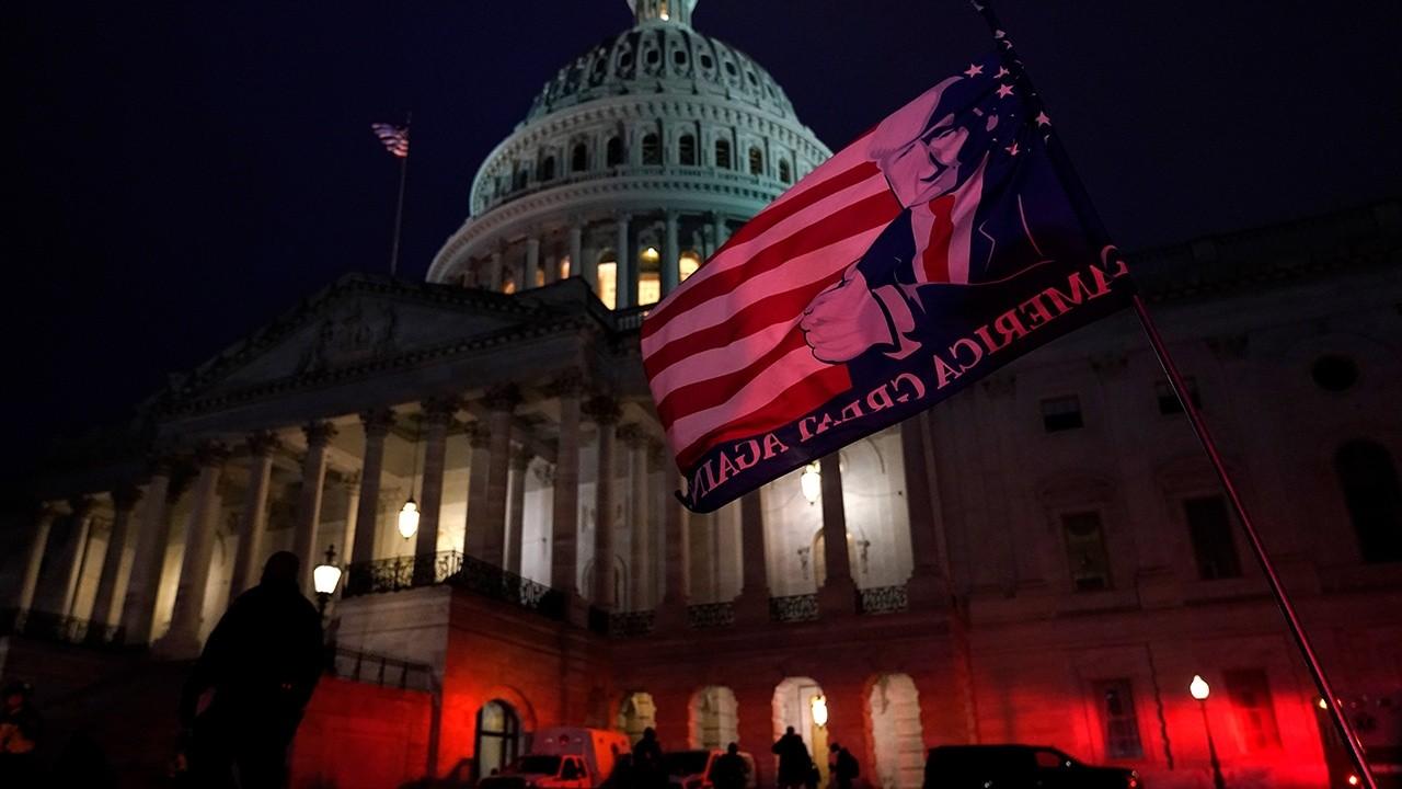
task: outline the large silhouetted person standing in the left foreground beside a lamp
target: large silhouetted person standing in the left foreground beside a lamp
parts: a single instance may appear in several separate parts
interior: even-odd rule
[[[185,682],[179,717],[193,734],[191,783],[283,786],[287,748],[321,663],[321,615],[297,588],[297,556],[280,550],[264,566],[262,581],[230,604]]]

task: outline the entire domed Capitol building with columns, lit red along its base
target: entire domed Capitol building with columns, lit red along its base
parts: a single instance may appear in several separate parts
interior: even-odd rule
[[[45,468],[0,532],[0,674],[147,775],[181,661],[286,549],[308,595],[343,570],[294,786],[486,775],[557,724],[757,755],[794,726],[889,789],[927,747],[1008,741],[1199,786],[1195,674],[1230,781],[1340,785],[1129,314],[716,514],[676,503],[642,316],[830,149],[695,0],[629,7],[482,163],[426,282],[343,277]],[[1378,758],[1402,731],[1399,261],[1395,201],[1131,257]]]

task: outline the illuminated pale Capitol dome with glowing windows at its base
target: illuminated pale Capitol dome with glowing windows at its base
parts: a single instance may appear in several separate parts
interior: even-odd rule
[[[634,27],[572,59],[488,154],[430,282],[502,292],[582,277],[656,302],[827,159],[784,90],[691,27],[697,0],[634,0]]]

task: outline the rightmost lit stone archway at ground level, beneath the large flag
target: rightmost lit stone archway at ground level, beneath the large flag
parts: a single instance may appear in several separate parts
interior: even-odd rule
[[[925,744],[920,729],[920,694],[906,674],[883,674],[866,696],[872,720],[872,783],[882,789],[917,789],[924,779]]]

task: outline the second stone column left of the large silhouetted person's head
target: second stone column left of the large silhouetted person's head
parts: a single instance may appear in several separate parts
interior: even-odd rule
[[[209,444],[200,448],[196,460],[199,477],[195,482],[195,505],[189,511],[185,533],[185,559],[181,563],[179,585],[175,588],[175,608],[170,630],[157,642],[160,654],[174,658],[199,654],[199,632],[203,623],[205,588],[209,584],[209,562],[215,552],[215,528],[219,519],[219,477],[227,452]]]

